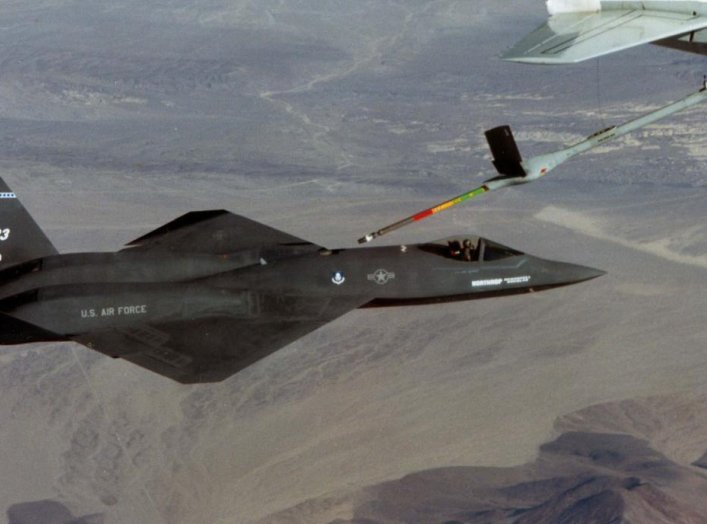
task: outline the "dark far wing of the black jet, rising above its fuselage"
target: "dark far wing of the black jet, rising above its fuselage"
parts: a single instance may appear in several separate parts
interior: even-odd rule
[[[188,253],[232,253],[277,244],[311,244],[228,211],[192,211],[128,244],[131,250]]]

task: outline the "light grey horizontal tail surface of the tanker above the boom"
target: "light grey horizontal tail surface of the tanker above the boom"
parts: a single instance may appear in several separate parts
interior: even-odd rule
[[[528,64],[568,64],[707,27],[693,13],[642,9],[561,13],[523,38],[502,58]]]

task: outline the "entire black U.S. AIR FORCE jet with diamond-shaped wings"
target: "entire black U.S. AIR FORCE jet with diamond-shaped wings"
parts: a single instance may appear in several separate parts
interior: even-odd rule
[[[0,179],[0,344],[73,340],[183,383],[223,380],[358,307],[601,274],[466,235],[325,249],[222,210],[187,213],[115,253],[60,255]]]

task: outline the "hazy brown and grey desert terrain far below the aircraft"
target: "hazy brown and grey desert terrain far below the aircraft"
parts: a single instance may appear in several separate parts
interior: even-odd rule
[[[529,157],[702,81],[705,57],[654,46],[498,58],[545,16],[540,0],[9,2],[0,173],[61,252],[201,209],[353,247],[492,175],[485,129],[512,125]],[[482,235],[608,272],[591,282],[356,310],[218,384],[3,347],[0,508],[10,524],[707,522],[706,114],[381,239]]]

